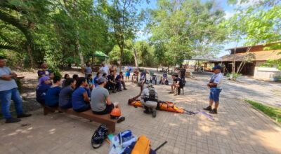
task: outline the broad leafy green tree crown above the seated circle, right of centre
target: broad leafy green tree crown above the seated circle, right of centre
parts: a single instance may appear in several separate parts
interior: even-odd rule
[[[224,40],[223,11],[213,1],[160,0],[158,8],[150,10],[148,25],[155,43],[163,43],[171,64],[182,64],[192,55],[204,55],[214,51]]]

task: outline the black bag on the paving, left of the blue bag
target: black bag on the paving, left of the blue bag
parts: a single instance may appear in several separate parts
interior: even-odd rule
[[[103,144],[103,141],[107,138],[108,129],[106,125],[102,124],[98,129],[93,133],[91,144],[93,148],[100,148]]]

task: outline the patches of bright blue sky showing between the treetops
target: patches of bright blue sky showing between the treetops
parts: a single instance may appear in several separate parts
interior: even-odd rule
[[[202,1],[205,1],[205,0],[202,0]],[[250,0],[250,3],[253,2],[256,0]],[[235,6],[231,6],[227,3],[227,0],[216,0],[216,3],[218,5],[218,7],[222,8],[225,13],[226,13],[226,16],[225,18],[230,18],[234,13],[235,13]],[[247,5],[247,4],[245,4]],[[240,6],[240,7],[243,7],[243,6]],[[143,5],[139,6],[138,9],[146,9],[146,8],[157,8],[157,0],[150,0],[150,3],[143,3]],[[143,31],[139,31],[138,32],[138,40],[146,40],[148,39],[148,36],[149,34],[143,34]],[[238,43],[238,46],[242,46],[244,43],[244,41],[241,41],[240,43]],[[223,44],[224,46],[224,49],[221,50],[221,52],[218,54],[218,57],[221,57],[223,55],[226,55],[226,54],[229,54],[228,51],[226,51],[225,49],[228,49],[228,48],[233,48],[235,46],[235,43],[234,42],[230,42],[230,43],[226,43],[226,44]]]

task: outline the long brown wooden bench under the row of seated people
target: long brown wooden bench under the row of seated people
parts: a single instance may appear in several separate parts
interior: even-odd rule
[[[68,113],[68,114],[78,116],[81,118],[85,118],[88,120],[92,120],[96,123],[105,124],[105,125],[107,125],[108,130],[110,132],[115,132],[115,124],[117,123],[117,120],[111,119],[110,114],[97,115],[97,114],[94,114],[91,110],[84,111],[84,112],[76,112],[73,109],[51,108],[48,106],[43,106],[43,107],[44,107],[44,116],[46,116],[48,113],[54,113],[55,111],[60,111],[60,112]]]

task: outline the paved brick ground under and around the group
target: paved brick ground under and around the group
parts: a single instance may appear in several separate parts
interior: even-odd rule
[[[178,97],[167,94],[169,86],[156,85],[159,99],[191,111],[200,110],[208,104],[204,80],[188,82],[185,95]],[[117,124],[117,132],[129,129],[136,135],[145,134],[151,139],[152,148],[168,141],[159,153],[281,153],[280,127],[240,99],[228,97],[226,92],[221,96],[218,115],[211,121],[202,115],[166,111],[158,111],[157,117],[152,118],[143,109],[127,105],[127,100],[139,92],[139,87],[131,83],[128,88],[126,92],[110,94],[112,100],[120,102],[126,117]],[[20,123],[0,121],[0,153],[108,153],[106,142],[97,150],[91,148],[91,135],[99,124],[65,113],[43,116],[41,109],[33,113]]]

